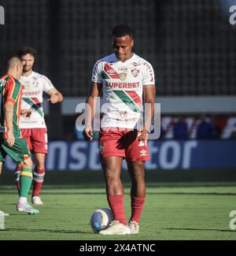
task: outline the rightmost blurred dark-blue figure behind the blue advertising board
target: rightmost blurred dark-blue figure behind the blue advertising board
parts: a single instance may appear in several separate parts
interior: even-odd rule
[[[216,134],[216,127],[212,122],[201,117],[201,122],[197,125],[197,139],[214,139]]]

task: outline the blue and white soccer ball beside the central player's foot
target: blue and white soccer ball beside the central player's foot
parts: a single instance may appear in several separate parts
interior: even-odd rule
[[[108,228],[111,221],[114,221],[112,210],[101,208],[95,210],[90,217],[90,226],[95,233]]]

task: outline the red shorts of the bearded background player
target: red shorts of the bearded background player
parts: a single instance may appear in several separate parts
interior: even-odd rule
[[[20,131],[32,153],[47,154],[46,128],[21,128]]]

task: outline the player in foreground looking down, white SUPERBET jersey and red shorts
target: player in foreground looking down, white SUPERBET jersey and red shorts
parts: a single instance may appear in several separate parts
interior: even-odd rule
[[[87,125],[84,139],[93,139],[91,122],[95,97],[103,91],[99,150],[105,174],[106,194],[114,214],[109,228],[102,235],[125,235],[139,232],[140,216],[145,202],[145,161],[149,160],[147,139],[150,120],[154,115],[156,87],[152,65],[132,52],[134,39],[131,28],[117,25],[112,32],[111,54],[94,65],[90,95],[87,98]],[[151,111],[144,124],[142,97]],[[89,110],[90,109],[90,110]],[[142,127],[138,128],[141,123]],[[126,158],[131,175],[131,218],[124,213],[124,187],[120,180],[121,165]]]

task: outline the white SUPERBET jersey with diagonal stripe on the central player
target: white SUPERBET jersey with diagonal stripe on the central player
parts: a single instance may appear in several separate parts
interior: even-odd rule
[[[136,54],[124,62],[111,54],[96,62],[92,81],[102,84],[101,128],[137,128],[143,87],[155,84],[152,65]]]

